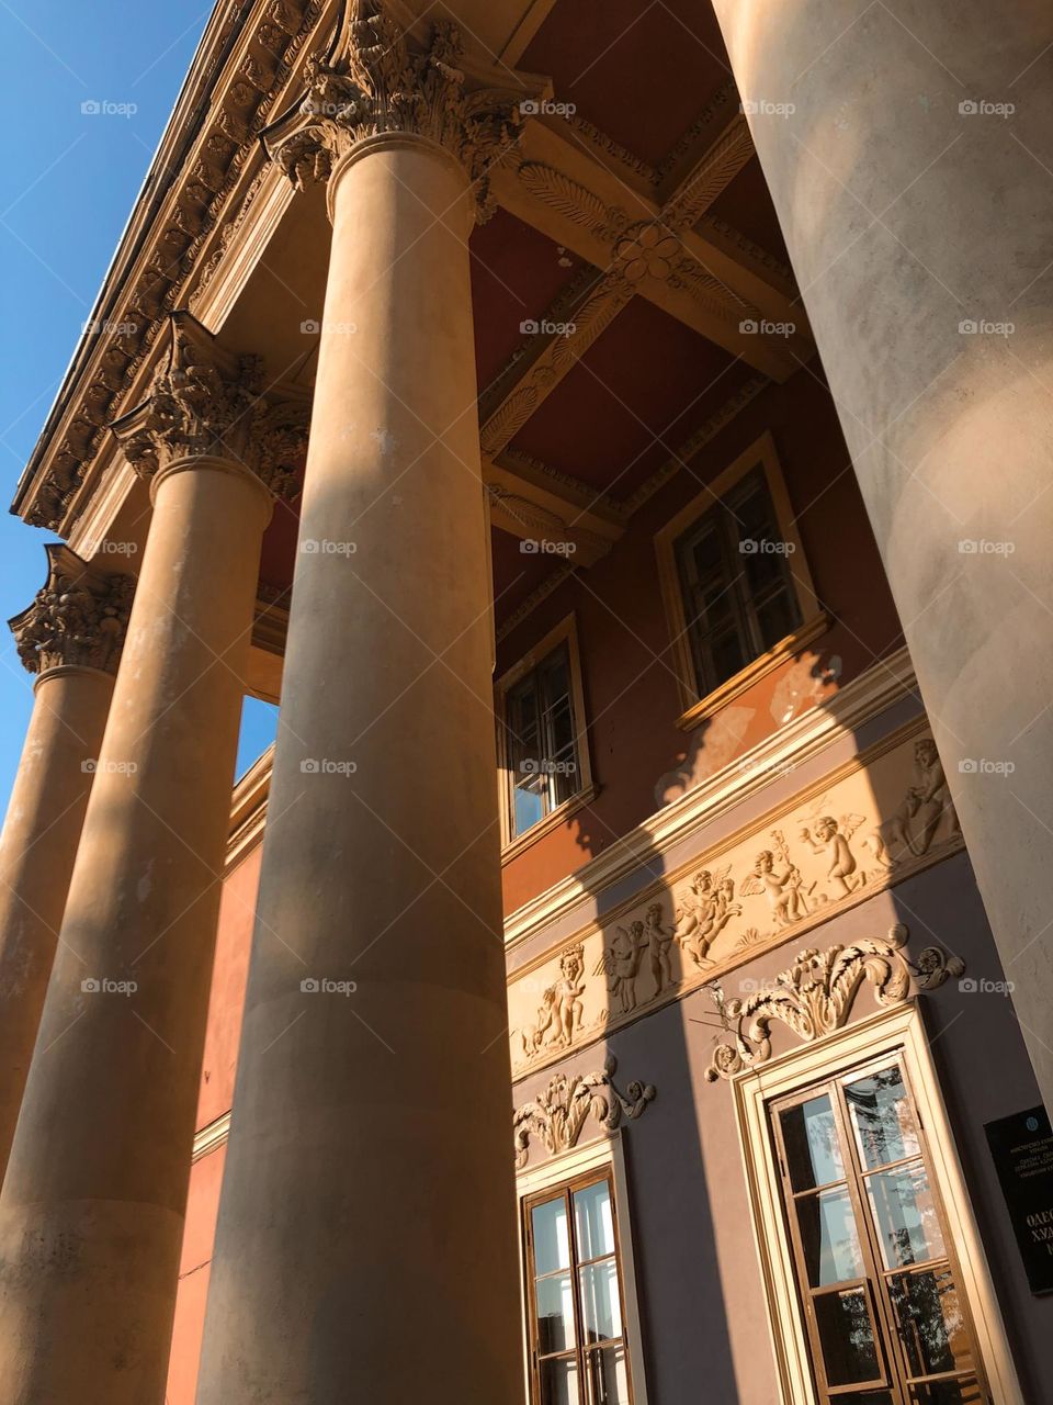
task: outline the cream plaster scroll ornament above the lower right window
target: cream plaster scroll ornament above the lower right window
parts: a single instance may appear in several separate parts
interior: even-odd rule
[[[927,947],[917,962],[908,961],[903,954],[907,937],[907,927],[897,923],[887,937],[868,937],[821,953],[809,947],[797,953],[793,965],[781,971],[771,986],[755,991],[746,1000],[729,1000],[719,984],[710,986],[720,1023],[734,1035],[734,1043],[716,1047],[706,1082],[730,1079],[767,1064],[774,1020],[813,1043],[848,1023],[863,984],[873,989],[878,1005],[896,1006],[908,1000],[913,989],[935,989],[948,976],[965,971],[960,957],[948,957],[938,947]]]

